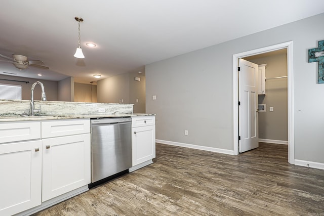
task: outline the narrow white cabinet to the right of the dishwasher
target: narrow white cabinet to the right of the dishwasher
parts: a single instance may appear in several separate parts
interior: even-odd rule
[[[132,117],[132,165],[130,171],[155,158],[155,116]]]

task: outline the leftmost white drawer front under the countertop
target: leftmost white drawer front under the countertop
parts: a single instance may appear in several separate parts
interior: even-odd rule
[[[41,138],[41,122],[0,123],[0,143],[34,140]]]

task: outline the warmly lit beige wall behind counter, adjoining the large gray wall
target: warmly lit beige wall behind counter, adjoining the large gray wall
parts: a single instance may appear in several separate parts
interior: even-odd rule
[[[140,77],[141,81],[135,81],[135,77]],[[100,103],[119,103],[123,99],[124,103],[134,104],[134,113],[145,113],[145,67],[99,80],[97,99]]]

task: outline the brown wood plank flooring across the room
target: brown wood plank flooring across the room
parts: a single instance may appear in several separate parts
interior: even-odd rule
[[[324,170],[288,146],[231,156],[156,144],[154,163],[34,215],[324,215]]]

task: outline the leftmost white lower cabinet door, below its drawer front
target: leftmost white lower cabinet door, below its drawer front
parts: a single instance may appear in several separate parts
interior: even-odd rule
[[[0,215],[41,205],[42,141],[0,145]]]

